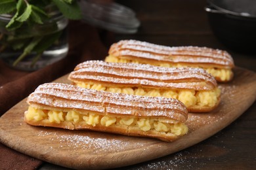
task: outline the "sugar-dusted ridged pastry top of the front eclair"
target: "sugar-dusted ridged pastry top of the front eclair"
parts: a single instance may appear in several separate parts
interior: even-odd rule
[[[94,111],[114,116],[151,116],[185,122],[186,107],[176,99],[144,97],[79,88],[70,84],[46,83],[28,97],[28,104],[41,109]]]

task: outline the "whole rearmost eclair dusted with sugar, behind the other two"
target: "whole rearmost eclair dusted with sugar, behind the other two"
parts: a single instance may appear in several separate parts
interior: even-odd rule
[[[218,82],[232,80],[234,61],[224,50],[198,46],[162,46],[149,42],[124,40],[112,44],[105,61],[147,63],[161,67],[200,67]]]

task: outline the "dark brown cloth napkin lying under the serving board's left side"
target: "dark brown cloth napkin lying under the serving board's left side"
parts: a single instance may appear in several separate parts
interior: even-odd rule
[[[68,25],[70,50],[66,58],[32,73],[17,71],[0,61],[0,116],[27,97],[40,84],[51,82],[72,71],[78,63],[104,59],[113,42],[110,32],[82,22]],[[0,143],[0,169],[36,169],[41,160],[31,158]]]

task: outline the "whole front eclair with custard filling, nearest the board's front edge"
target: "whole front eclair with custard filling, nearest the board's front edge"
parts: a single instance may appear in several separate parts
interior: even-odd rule
[[[188,133],[188,110],[177,99],[144,97],[80,88],[40,85],[27,99],[24,113],[32,126],[90,129],[175,141]]]

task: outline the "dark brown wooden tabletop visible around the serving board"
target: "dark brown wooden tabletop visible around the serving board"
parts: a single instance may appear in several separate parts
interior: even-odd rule
[[[116,41],[137,39],[168,46],[208,46],[227,50],[236,66],[256,71],[256,56],[229,50],[213,35],[204,0],[117,1],[137,13],[138,33],[115,34]],[[255,87],[256,88],[256,87]],[[243,95],[243,92],[241,92]],[[256,103],[230,126],[205,141],[175,154],[146,161],[125,169],[255,169]],[[45,163],[41,169],[63,169]]]

